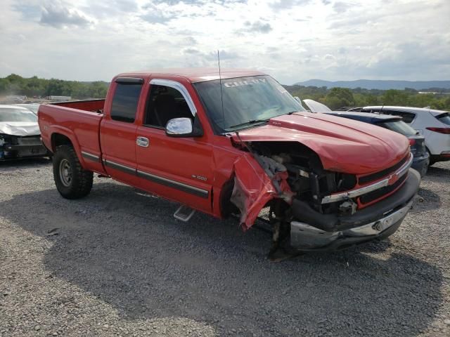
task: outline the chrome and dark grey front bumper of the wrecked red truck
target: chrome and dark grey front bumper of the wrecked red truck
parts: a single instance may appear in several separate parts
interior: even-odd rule
[[[410,169],[397,192],[352,216],[321,214],[295,200],[293,215],[302,221],[290,223],[290,246],[301,251],[335,250],[389,237],[411,209],[419,185],[419,173]]]

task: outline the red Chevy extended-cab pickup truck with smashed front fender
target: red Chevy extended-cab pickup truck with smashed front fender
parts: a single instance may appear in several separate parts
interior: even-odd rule
[[[268,208],[273,245],[330,250],[395,232],[420,176],[409,142],[359,121],[311,114],[252,70],[120,74],[105,100],[39,107],[60,194],[84,197],[93,173],[248,230]],[[188,211],[186,211],[188,210]]]

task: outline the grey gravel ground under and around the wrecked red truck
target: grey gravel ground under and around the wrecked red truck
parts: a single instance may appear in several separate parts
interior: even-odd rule
[[[450,336],[450,163],[388,241],[269,263],[270,237],[49,161],[0,163],[0,336]]]

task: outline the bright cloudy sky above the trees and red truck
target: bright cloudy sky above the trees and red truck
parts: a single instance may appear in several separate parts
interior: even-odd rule
[[[450,79],[450,0],[1,0],[0,77],[110,81],[168,67]]]

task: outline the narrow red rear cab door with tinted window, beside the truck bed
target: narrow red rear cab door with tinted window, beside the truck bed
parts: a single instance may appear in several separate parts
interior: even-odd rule
[[[143,79],[118,77],[111,85],[113,99],[100,130],[103,164],[113,178],[136,185],[136,112]]]

